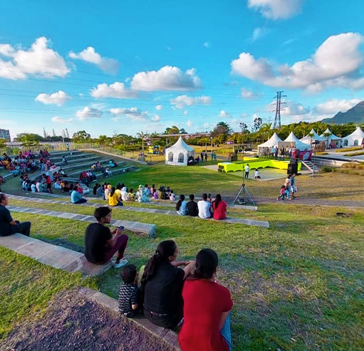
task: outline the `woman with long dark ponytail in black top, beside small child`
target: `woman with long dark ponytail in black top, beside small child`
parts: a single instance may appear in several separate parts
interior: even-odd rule
[[[162,241],[142,275],[144,315],[155,325],[175,328],[182,319],[182,286],[194,268],[194,261],[177,262],[178,247],[173,240]],[[184,269],[177,266],[185,266]]]

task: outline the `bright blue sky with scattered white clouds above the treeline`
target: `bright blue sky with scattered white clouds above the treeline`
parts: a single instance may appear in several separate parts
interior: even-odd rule
[[[0,128],[239,131],[364,100],[361,0],[0,1]]]

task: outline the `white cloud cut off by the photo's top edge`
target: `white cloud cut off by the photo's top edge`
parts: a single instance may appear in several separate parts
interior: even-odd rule
[[[261,12],[266,19],[289,19],[302,10],[303,0],[249,0],[248,7]]]

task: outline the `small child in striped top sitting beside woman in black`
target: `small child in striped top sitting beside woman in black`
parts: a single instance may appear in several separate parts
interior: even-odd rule
[[[123,284],[119,291],[119,311],[125,317],[134,317],[138,309],[137,298],[137,268],[133,264],[128,264],[121,271]]]

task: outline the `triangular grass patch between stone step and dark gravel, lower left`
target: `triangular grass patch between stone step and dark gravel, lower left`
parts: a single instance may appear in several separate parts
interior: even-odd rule
[[[53,296],[68,288],[89,286],[80,273],[67,273],[0,247],[0,339],[22,320],[39,318]]]

